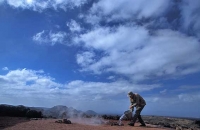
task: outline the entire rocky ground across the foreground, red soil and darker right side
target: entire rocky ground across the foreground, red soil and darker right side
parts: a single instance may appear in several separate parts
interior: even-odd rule
[[[112,125],[116,120],[104,120],[99,118],[76,118],[69,119],[71,124],[65,124],[62,119],[27,119],[19,117],[0,117],[0,129],[4,130],[200,130],[196,120],[175,119],[169,117],[143,117],[147,123],[146,127],[140,127],[136,123],[134,127],[129,126],[129,121],[123,121],[123,126]],[[175,126],[174,126],[175,125]],[[179,126],[177,126],[179,125]],[[164,127],[165,126],[165,127]]]

